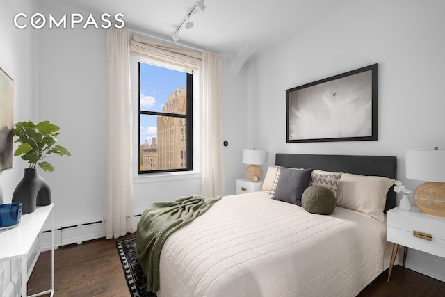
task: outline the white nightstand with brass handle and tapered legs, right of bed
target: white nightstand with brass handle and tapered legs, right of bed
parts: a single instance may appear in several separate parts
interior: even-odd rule
[[[408,248],[445,258],[445,218],[422,214],[417,207],[403,211],[398,207],[387,211],[387,241],[394,243],[388,281],[398,246],[405,246],[403,266]]]

